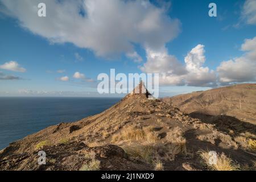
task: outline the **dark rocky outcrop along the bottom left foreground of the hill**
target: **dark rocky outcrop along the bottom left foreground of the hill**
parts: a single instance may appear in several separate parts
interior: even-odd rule
[[[39,150],[32,153],[8,155],[0,161],[0,170],[54,170],[74,171],[80,170],[92,158],[99,161],[99,170],[147,170],[147,164],[135,164],[125,155],[121,147],[108,145],[88,147],[83,142],[59,144],[56,146],[43,147],[40,150],[46,152],[46,164],[39,165]],[[88,157],[89,156],[89,157]]]

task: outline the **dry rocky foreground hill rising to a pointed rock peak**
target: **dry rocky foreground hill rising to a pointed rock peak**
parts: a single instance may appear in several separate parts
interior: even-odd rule
[[[143,83],[138,88],[146,90]],[[133,92],[100,114],[11,143],[0,151],[0,169],[255,169],[255,125],[238,120],[240,128],[221,130],[148,96],[147,91]],[[38,164],[39,151],[46,152],[46,165]],[[216,164],[208,163],[209,151],[217,152]]]

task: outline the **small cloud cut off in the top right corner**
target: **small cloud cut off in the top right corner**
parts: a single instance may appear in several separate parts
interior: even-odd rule
[[[246,0],[243,5],[242,18],[247,24],[256,24],[256,1]]]

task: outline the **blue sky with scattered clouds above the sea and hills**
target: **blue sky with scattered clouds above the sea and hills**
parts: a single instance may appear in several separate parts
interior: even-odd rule
[[[256,81],[255,0],[0,0],[0,27],[0,97],[122,97],[97,92],[112,68],[161,97]]]

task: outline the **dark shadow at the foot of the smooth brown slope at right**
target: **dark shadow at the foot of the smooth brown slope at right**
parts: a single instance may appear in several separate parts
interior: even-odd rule
[[[188,115],[192,118],[200,119],[204,123],[213,124],[216,126],[217,130],[226,134],[230,134],[230,130],[232,130],[235,135],[245,133],[247,131],[256,135],[256,125],[240,121],[239,119],[229,115],[208,115],[196,112]]]

